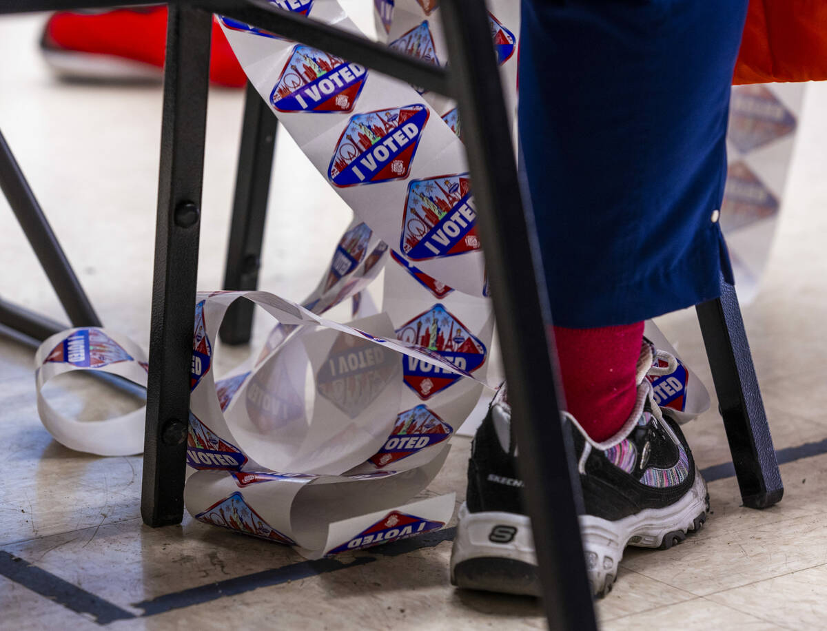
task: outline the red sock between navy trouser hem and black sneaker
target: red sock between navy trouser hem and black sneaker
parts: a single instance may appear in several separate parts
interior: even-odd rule
[[[619,327],[554,327],[566,409],[597,442],[618,433],[638,392],[635,372],[643,323]]]

